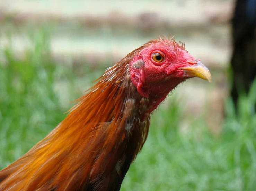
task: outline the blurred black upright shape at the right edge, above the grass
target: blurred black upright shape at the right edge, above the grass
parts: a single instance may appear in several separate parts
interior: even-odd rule
[[[237,0],[232,18],[233,84],[231,96],[237,106],[239,92],[248,93],[256,76],[256,0]]]

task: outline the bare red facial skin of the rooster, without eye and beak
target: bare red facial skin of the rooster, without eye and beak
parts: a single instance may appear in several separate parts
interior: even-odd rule
[[[167,94],[189,76],[184,76],[180,67],[196,64],[198,59],[187,53],[184,48],[174,43],[155,43],[145,47],[130,62],[130,77],[141,96],[148,97],[152,106],[151,113],[166,98]],[[160,53],[164,60],[156,62],[152,59],[153,53]],[[134,68],[133,64],[143,60],[144,66]]]

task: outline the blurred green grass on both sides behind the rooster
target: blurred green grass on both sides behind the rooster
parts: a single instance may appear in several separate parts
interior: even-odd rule
[[[47,35],[46,35],[47,36]],[[44,31],[33,34],[33,50],[16,58],[12,48],[1,50],[0,169],[45,137],[103,70],[72,61],[54,63]],[[207,131],[204,117],[183,132],[183,110],[171,100],[151,120],[142,152],[131,165],[122,191],[244,191],[256,190],[256,83],[241,96],[236,115],[226,101],[220,136]]]

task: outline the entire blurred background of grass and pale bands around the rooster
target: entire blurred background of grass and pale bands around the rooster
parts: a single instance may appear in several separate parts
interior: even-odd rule
[[[236,21],[235,3],[1,0],[0,169],[61,122],[107,67],[171,33],[213,82],[186,81],[161,104],[121,190],[255,190],[256,83],[238,88],[235,104],[230,91],[233,73],[244,80],[244,60],[255,77],[256,1],[240,0]]]

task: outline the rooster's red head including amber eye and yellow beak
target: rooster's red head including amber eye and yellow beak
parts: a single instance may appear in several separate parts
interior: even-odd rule
[[[173,38],[149,41],[130,62],[132,83],[156,107],[178,84],[193,77],[211,82],[209,70]]]

